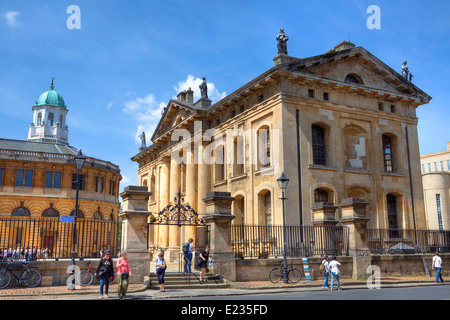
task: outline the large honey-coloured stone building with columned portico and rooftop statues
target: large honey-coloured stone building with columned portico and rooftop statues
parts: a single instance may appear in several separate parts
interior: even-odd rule
[[[168,102],[132,157],[149,211],[181,190],[201,217],[209,192],[229,192],[233,223],[279,225],[284,172],[287,224],[335,225],[358,198],[367,228],[425,229],[416,108],[431,97],[348,41],[309,58],[281,52],[274,64],[213,104],[190,89]],[[161,225],[149,240],[179,251],[191,235]]]

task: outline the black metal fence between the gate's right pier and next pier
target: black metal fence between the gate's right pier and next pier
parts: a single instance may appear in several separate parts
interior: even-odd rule
[[[349,254],[348,227],[289,225],[285,230],[287,257]],[[236,258],[283,256],[284,237],[281,225],[233,225],[231,238]]]

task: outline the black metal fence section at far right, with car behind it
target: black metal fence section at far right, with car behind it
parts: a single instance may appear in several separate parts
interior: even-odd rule
[[[450,231],[367,229],[367,245],[373,254],[450,252]]]

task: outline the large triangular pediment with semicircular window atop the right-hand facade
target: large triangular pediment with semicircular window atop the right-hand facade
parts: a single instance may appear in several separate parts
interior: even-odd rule
[[[415,86],[412,81],[362,47],[329,52],[306,59],[295,59],[285,67],[290,71],[297,71],[325,81],[330,80],[364,89],[410,96],[423,102],[431,100],[431,97]],[[347,80],[349,75],[353,78],[349,77]],[[355,79],[359,81],[355,81]]]

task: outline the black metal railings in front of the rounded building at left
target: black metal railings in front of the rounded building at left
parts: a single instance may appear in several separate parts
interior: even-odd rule
[[[11,259],[64,259],[72,257],[74,223],[50,217],[0,217],[0,253]],[[119,223],[77,218],[76,258],[97,258],[101,250],[118,254]]]

